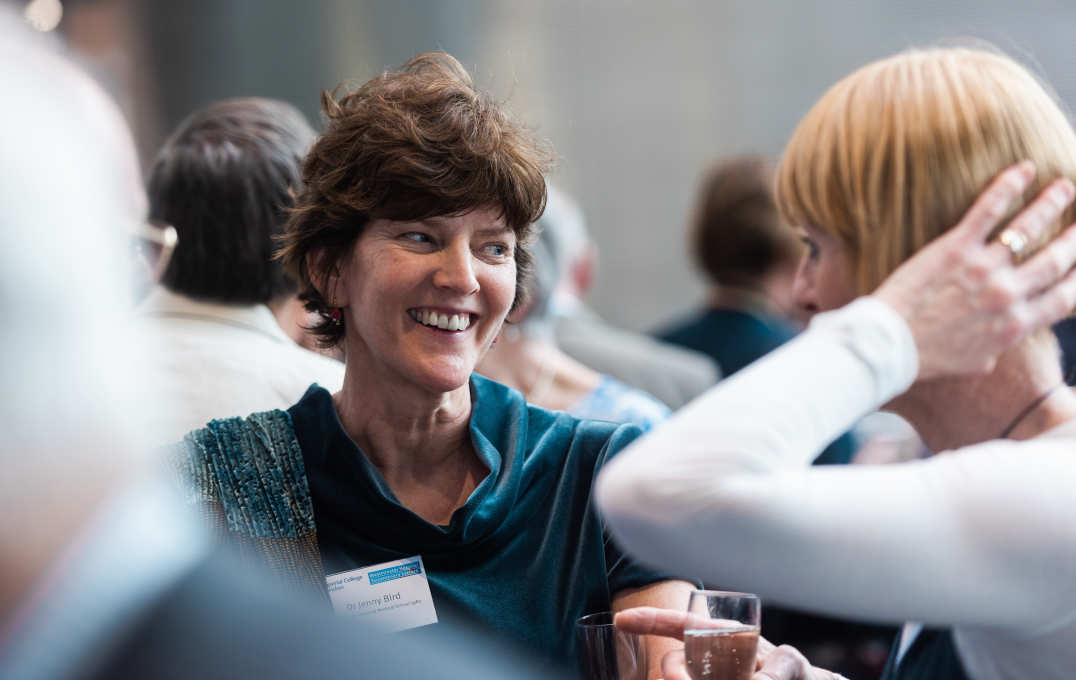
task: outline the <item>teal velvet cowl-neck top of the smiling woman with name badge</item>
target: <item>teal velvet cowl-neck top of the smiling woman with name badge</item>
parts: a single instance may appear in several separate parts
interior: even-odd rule
[[[574,663],[578,618],[608,610],[618,591],[675,578],[624,555],[591,498],[598,468],[641,430],[528,406],[480,376],[470,387],[471,441],[490,473],[448,526],[399,504],[324,388],[288,410],[324,571],[422,555],[439,618],[462,615]],[[411,634],[421,635],[400,635]]]

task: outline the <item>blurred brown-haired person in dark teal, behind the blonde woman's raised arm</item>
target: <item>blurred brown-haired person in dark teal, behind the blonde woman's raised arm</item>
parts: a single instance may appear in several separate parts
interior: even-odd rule
[[[706,306],[655,334],[709,355],[726,378],[798,332],[802,312],[796,311],[793,283],[804,245],[777,213],[775,170],[765,156],[744,155],[706,171],[689,230],[692,259],[709,287]],[[860,441],[858,434],[844,433],[815,463],[849,463]],[[890,441],[879,439],[870,448],[872,459],[894,451],[894,445],[881,447]],[[722,586],[720,580],[712,583]],[[764,615],[769,636],[851,677],[872,671],[877,676],[894,633],[789,610],[773,601],[766,604]]]

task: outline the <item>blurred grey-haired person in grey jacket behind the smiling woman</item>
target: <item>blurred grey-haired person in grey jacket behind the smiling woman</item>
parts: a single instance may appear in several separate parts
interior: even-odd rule
[[[718,381],[721,367],[706,355],[612,326],[586,307],[597,249],[571,197],[550,187],[542,222],[553,233],[553,259],[560,267],[550,311],[561,351],[599,373],[653,395],[674,410]]]

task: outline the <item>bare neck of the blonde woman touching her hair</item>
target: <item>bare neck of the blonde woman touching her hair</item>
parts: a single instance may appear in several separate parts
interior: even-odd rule
[[[997,439],[1037,437],[1076,419],[1076,395],[1062,385],[1050,343],[1025,341],[993,372],[917,383],[887,409],[911,423],[932,451]]]

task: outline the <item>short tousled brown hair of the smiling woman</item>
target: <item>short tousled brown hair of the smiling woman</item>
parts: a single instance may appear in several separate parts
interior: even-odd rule
[[[337,97],[322,94],[328,118],[302,165],[302,192],[279,257],[299,297],[322,321],[312,330],[334,345],[343,326],[329,318],[307,255],[320,251],[332,271],[371,219],[424,219],[483,207],[500,210],[515,231],[513,309],[525,295],[533,224],[546,206],[551,154],[476,89],[452,56],[427,53]]]

